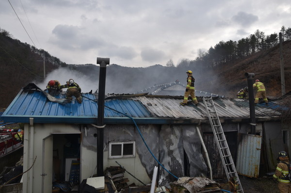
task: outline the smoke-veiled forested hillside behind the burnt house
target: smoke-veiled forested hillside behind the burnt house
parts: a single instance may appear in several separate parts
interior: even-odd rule
[[[283,32],[283,58],[285,64],[286,92],[291,91],[291,29]],[[179,64],[169,60],[166,66],[125,67],[110,64],[106,74],[106,93],[127,94],[144,90],[153,85],[179,80],[186,83],[186,71],[192,70],[197,90],[235,97],[236,92],[247,85],[245,72],[255,73],[254,79],[265,83],[268,96],[281,95],[280,56],[278,34],[264,35],[256,31],[239,41],[219,42],[207,52],[200,52],[194,60],[183,59]],[[90,82],[99,79],[97,64],[65,64],[44,50],[21,43],[0,29],[0,108],[6,108],[29,82],[45,85],[43,78],[43,53],[46,56],[46,75],[64,70],[70,76],[78,72]],[[52,77],[58,79],[59,77]],[[70,77],[72,78],[72,77]],[[98,84],[80,82],[96,91]],[[63,82],[62,82],[63,83]],[[65,83],[65,82],[64,82]]]

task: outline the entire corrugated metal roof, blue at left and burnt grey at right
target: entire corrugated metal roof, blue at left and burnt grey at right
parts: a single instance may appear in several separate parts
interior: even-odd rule
[[[81,104],[73,100],[60,104],[51,102],[40,89],[22,89],[2,119],[7,122],[29,123],[82,123],[96,124],[98,105],[96,96],[82,93]],[[55,96],[64,98],[65,93]],[[154,96],[145,94],[114,95],[105,100],[105,124],[132,124],[133,117],[138,124],[191,124],[199,121],[207,122],[208,115],[201,97],[197,97],[196,107],[190,102],[181,106],[183,96]],[[213,98],[220,119],[249,119],[249,101],[240,98]],[[280,113],[275,111],[277,104],[269,102],[269,106],[257,105],[256,118],[279,119]],[[108,108],[107,108],[108,107]],[[118,112],[121,113],[118,113]],[[126,116],[126,115],[128,116]]]

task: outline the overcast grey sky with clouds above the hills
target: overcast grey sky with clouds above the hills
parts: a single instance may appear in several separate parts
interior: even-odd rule
[[[290,0],[0,0],[1,29],[66,64],[176,65],[283,25],[291,27]]]

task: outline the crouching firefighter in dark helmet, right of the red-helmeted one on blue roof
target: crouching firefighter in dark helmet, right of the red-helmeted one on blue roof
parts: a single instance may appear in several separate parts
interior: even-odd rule
[[[75,96],[77,102],[80,104],[82,103],[81,88],[73,79],[67,81],[65,85],[61,86],[61,88],[67,88],[65,98],[68,101],[71,102],[73,99],[72,96]]]

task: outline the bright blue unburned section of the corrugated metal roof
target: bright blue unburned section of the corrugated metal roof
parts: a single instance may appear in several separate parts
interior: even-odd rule
[[[7,110],[2,114],[5,122],[29,123],[33,117],[35,123],[96,123],[98,105],[94,94],[82,93],[83,101],[79,104],[76,100],[71,103],[51,102],[38,89],[22,89]],[[64,98],[65,93],[58,94],[56,98]],[[105,106],[111,107],[121,113],[109,108],[104,109],[104,119],[110,117],[127,118],[125,113],[134,118],[151,117],[151,114],[137,100],[115,99],[106,100]]]

